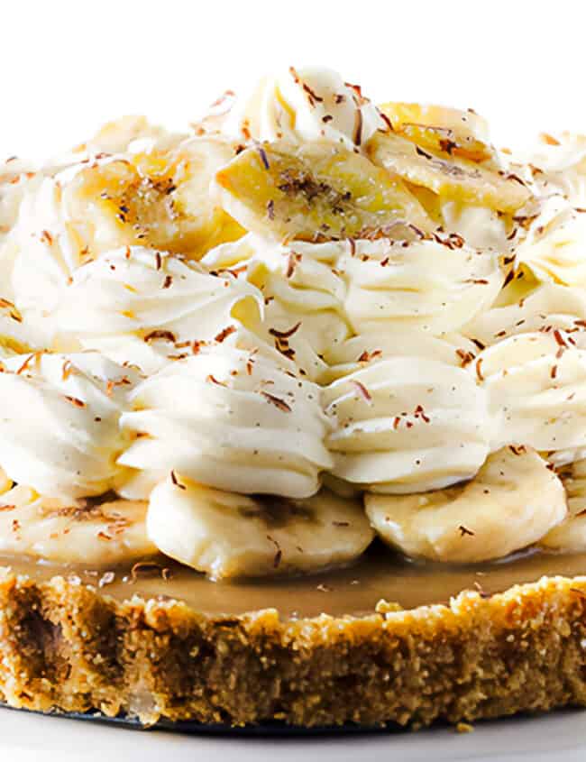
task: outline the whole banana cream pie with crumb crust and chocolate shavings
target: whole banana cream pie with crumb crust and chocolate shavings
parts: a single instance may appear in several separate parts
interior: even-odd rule
[[[586,702],[586,138],[328,69],[0,170],[0,699]]]

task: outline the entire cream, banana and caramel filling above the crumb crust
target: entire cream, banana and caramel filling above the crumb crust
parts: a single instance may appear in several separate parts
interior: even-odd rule
[[[586,138],[327,69],[9,159],[3,564],[288,616],[585,572],[585,209]]]

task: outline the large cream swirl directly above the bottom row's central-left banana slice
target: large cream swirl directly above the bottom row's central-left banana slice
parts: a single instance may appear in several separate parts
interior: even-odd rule
[[[142,381],[122,418],[136,438],[118,463],[220,490],[315,494],[332,465],[321,390],[274,354],[215,343]]]

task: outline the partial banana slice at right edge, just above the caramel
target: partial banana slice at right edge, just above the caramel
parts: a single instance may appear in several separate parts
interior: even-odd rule
[[[539,545],[566,553],[586,550],[586,460],[572,463],[560,473],[568,502],[568,515],[542,537]]]

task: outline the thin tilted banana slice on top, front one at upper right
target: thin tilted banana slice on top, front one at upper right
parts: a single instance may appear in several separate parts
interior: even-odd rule
[[[463,201],[500,212],[515,212],[531,197],[517,179],[458,156],[446,157],[425,151],[403,135],[376,133],[366,147],[380,167],[414,185],[432,190],[444,198]]]

